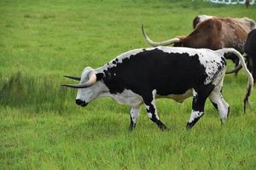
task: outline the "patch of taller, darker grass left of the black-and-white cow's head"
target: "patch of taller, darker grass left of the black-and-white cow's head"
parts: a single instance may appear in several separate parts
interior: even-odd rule
[[[75,96],[73,90],[61,87],[59,77],[26,77],[20,72],[8,80],[0,77],[0,105],[23,108],[32,112],[68,110],[67,100]]]

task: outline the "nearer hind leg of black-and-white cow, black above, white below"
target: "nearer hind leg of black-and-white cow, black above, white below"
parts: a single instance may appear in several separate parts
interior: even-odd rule
[[[198,89],[193,89],[193,101],[192,101],[192,111],[187,123],[187,128],[191,128],[196,122],[204,115],[205,103],[208,95],[212,92],[213,85],[203,86]]]

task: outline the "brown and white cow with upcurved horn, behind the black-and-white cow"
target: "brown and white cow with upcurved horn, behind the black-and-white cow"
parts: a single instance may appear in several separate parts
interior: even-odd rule
[[[195,17],[195,30],[188,36],[175,37],[164,42],[153,42],[145,33],[146,41],[156,46],[171,45],[175,47],[189,48],[210,48],[217,50],[220,48],[236,48],[241,54],[244,52],[244,44],[247,34],[256,28],[253,20],[248,18],[215,17],[209,15],[199,15]],[[238,65],[239,59],[236,56],[227,56]]]

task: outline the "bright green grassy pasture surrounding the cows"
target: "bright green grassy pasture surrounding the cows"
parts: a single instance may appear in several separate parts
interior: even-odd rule
[[[224,81],[230,117],[221,125],[206,113],[185,129],[191,99],[159,99],[160,132],[142,108],[128,132],[130,108],[113,99],[75,105],[76,90],[61,88],[85,66],[99,67],[129,49],[192,31],[197,14],[256,20],[256,6],[196,0],[1,0],[0,169],[256,169],[256,93],[243,114],[247,77]],[[233,64],[229,62],[229,67]]]

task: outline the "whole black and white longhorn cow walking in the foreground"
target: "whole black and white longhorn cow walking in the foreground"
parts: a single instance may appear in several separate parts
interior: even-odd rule
[[[110,96],[121,104],[130,105],[130,130],[136,126],[142,104],[146,106],[148,117],[161,130],[166,129],[157,114],[157,98],[170,98],[182,103],[184,99],[193,96],[187,128],[193,127],[204,114],[207,98],[218,110],[221,121],[225,122],[229,105],[221,90],[226,67],[224,54],[227,53],[236,54],[247,72],[249,80],[245,105],[253,86],[253,77],[247,70],[241,54],[233,48],[217,51],[174,47],[135,49],[120,54],[96,70],[86,67],[82,77],[69,77],[80,80],[78,85],[63,86],[79,88],[77,105],[85,106],[103,96]]]

